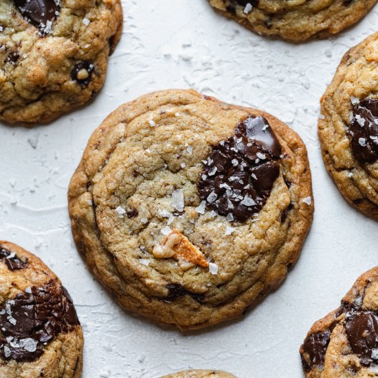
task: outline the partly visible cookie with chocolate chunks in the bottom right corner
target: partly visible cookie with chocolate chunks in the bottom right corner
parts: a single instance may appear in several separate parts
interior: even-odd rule
[[[311,327],[300,347],[306,377],[377,377],[378,267],[358,278],[341,306]]]

